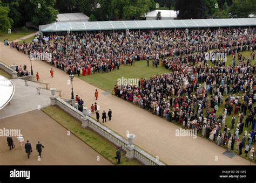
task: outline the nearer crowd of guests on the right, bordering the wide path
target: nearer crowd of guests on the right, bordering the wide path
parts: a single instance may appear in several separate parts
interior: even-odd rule
[[[142,78],[138,86],[114,86],[114,94],[184,128],[197,130],[228,150],[237,142],[239,154],[242,148],[246,155],[254,153],[256,65],[252,60],[255,48],[253,39],[249,45],[228,44],[211,51],[213,53],[163,58],[162,66],[171,73]],[[243,51],[251,51],[250,57],[245,58]],[[206,59],[207,54],[218,53],[224,53],[224,57]],[[230,66],[226,65],[227,55],[232,55]],[[157,61],[152,63],[157,65]],[[217,111],[221,115],[217,116]],[[231,126],[225,124],[227,116],[233,116]],[[248,135],[239,139],[248,126]]]

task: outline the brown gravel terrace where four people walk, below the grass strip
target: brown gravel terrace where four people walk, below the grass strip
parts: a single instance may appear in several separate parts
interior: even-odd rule
[[[30,141],[33,152],[28,159],[24,148],[19,149],[16,137],[12,137],[16,150],[10,151],[7,137],[0,137],[0,165],[112,165],[72,133],[69,136],[62,125],[41,110],[0,119],[0,129],[3,128],[20,129],[24,140]],[[41,161],[36,153],[38,140],[45,146]]]

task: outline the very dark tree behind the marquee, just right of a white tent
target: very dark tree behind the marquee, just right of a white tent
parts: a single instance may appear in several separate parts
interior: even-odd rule
[[[205,18],[205,1],[204,0],[176,0],[174,10],[179,11],[178,19],[201,19]]]

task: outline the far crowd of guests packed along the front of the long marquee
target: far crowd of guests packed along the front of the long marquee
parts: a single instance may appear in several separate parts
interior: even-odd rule
[[[111,72],[122,64],[133,65],[139,60],[152,59],[157,66],[160,58],[164,60],[173,56],[175,60],[164,61],[166,67],[188,60],[193,60],[193,63],[205,61],[204,56],[209,50],[227,55],[232,51],[253,52],[254,32],[255,29],[225,28],[73,33],[36,38],[31,43],[12,42],[10,46],[28,55],[51,53],[52,58],[45,61],[55,67],[68,74],[90,75]]]

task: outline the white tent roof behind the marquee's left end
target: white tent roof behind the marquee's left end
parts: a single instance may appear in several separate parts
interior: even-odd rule
[[[57,22],[86,21],[89,17],[84,13],[60,13],[57,15]]]

